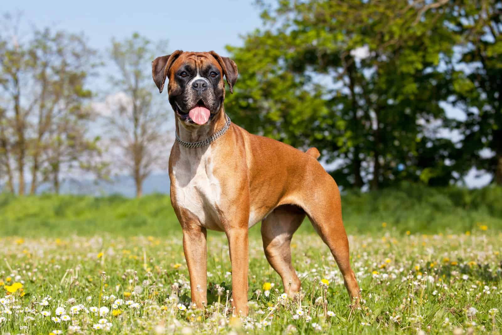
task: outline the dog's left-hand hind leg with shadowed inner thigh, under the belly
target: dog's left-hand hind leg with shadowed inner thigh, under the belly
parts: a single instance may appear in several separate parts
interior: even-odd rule
[[[291,263],[291,238],[304,218],[305,212],[299,207],[283,205],[276,208],[262,221],[265,256],[281,276],[284,291],[290,296],[300,291],[301,285]]]

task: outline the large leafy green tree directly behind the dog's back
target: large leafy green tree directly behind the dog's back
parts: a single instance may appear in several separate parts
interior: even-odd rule
[[[454,145],[431,126],[446,118],[439,102],[449,94],[446,3],[262,4],[265,29],[228,47],[241,75],[227,110],[253,132],[318,147],[341,185],[447,184]]]

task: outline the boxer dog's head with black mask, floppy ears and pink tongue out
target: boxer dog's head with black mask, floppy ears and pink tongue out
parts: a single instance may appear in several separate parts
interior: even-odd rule
[[[185,126],[198,126],[210,122],[221,110],[225,99],[223,76],[233,93],[237,66],[214,51],[177,50],[152,62],[152,76],[160,93],[169,78],[167,91],[176,117]]]

